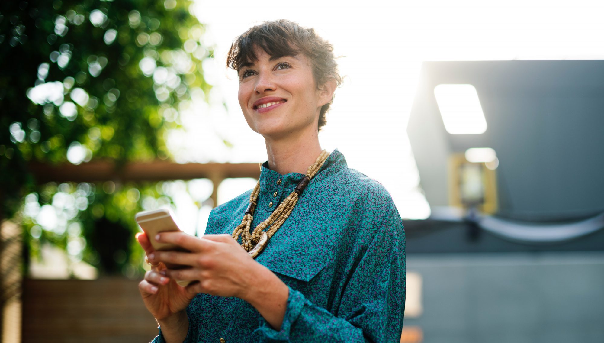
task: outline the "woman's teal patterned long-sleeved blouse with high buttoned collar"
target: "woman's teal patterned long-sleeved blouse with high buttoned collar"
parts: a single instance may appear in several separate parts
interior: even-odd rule
[[[265,220],[304,175],[262,165],[252,227]],[[214,208],[207,234],[231,234],[250,191]],[[348,168],[338,150],[302,193],[256,261],[289,287],[281,330],[246,301],[199,293],[185,342],[400,342],[405,309],[405,231],[390,194]],[[153,342],[164,342],[161,335]]]

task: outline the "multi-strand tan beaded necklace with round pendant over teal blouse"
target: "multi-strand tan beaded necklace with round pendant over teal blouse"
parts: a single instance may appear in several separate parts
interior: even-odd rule
[[[233,239],[239,241],[239,236],[241,236],[241,246],[245,251],[251,255],[252,258],[256,258],[258,254],[265,248],[268,244],[268,240],[271,239],[272,235],[277,232],[277,230],[283,225],[286,219],[288,219],[289,214],[294,210],[294,206],[298,202],[298,198],[300,194],[304,191],[310,179],[312,179],[317,171],[323,167],[323,163],[329,157],[329,153],[326,150],[321,152],[318,158],[316,158],[315,164],[309,165],[306,170],[306,175],[304,178],[298,182],[298,185],[294,188],[292,193],[289,193],[289,196],[286,197],[281,204],[275,208],[275,211],[271,213],[268,218],[265,219],[262,223],[254,228],[253,232],[249,232],[252,220],[254,219],[254,210],[256,208],[256,204],[258,201],[258,196],[260,194],[260,180],[256,183],[254,190],[252,190],[252,194],[249,196],[249,205],[247,210],[245,210],[245,214],[243,215],[243,219],[241,223],[237,225],[237,227],[233,230],[233,234],[231,235]],[[268,230],[264,231],[264,229],[268,228]]]

